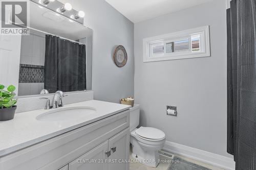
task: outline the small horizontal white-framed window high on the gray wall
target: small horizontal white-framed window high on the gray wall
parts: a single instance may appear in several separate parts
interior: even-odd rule
[[[143,61],[209,57],[209,26],[143,39]]]

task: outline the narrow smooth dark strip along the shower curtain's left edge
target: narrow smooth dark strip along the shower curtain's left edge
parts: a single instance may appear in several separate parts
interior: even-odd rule
[[[237,0],[230,2],[227,10],[227,152],[236,153],[237,133],[237,84],[238,84],[238,37],[237,37]]]

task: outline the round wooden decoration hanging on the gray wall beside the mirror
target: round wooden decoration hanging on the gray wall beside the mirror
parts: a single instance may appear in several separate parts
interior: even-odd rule
[[[116,47],[113,55],[114,61],[118,67],[123,67],[127,62],[127,53],[122,45]]]

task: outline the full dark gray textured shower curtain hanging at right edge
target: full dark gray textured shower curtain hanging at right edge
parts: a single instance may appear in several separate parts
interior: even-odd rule
[[[236,169],[256,169],[255,0],[227,10],[227,152]]]

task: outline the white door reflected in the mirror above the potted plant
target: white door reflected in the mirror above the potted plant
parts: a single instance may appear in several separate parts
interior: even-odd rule
[[[14,85],[18,94],[21,35],[0,35],[0,84]]]

